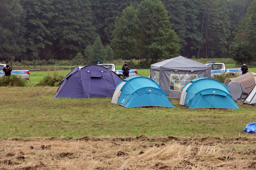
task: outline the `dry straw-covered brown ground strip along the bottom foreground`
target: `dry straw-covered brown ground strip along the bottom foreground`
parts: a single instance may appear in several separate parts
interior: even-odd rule
[[[0,140],[0,169],[255,169],[256,138],[93,137]]]

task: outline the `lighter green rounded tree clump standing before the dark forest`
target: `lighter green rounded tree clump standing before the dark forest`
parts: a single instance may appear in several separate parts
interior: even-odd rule
[[[127,7],[117,17],[112,46],[117,57],[138,55],[149,61],[178,56],[179,39],[169,22],[167,11],[159,0],[144,0],[137,9]]]

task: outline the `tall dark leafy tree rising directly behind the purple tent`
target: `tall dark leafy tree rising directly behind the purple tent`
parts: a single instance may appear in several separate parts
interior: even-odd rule
[[[65,58],[83,51],[95,38],[94,17],[89,0],[54,0],[57,12],[54,17],[54,47],[60,50]],[[52,49],[54,50],[54,49]]]

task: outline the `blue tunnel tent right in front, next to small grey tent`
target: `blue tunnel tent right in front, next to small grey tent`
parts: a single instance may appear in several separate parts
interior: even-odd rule
[[[196,78],[187,83],[182,89],[179,104],[190,109],[239,109],[229,89],[212,78]]]

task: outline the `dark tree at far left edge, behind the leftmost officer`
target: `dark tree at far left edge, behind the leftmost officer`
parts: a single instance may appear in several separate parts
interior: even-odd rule
[[[25,16],[19,0],[1,0],[0,60],[14,61],[25,52]]]

